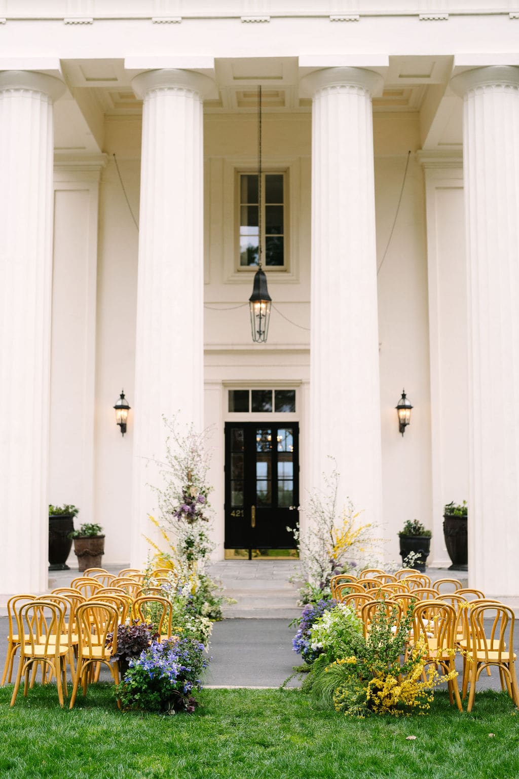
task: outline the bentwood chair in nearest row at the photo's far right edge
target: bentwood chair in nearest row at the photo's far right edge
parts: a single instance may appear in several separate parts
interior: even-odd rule
[[[485,620],[492,622],[486,632]],[[519,707],[519,688],[515,671],[516,654],[514,653],[514,622],[515,616],[510,606],[501,603],[482,603],[474,605],[470,610],[470,649],[472,663],[468,664],[470,693],[467,710],[471,711],[475,699],[475,686],[483,668],[496,665],[500,670],[501,684],[503,679],[510,698]]]

